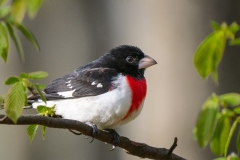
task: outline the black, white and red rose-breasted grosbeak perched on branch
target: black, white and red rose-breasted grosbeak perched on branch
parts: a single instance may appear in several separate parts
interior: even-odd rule
[[[56,115],[62,118],[90,122],[99,129],[123,125],[140,114],[147,91],[144,71],[156,63],[135,46],[113,48],[52,81],[44,90],[46,105],[56,105]]]

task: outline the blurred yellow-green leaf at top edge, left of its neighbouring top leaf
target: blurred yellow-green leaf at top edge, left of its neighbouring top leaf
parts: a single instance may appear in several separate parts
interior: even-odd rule
[[[26,0],[14,0],[11,8],[11,15],[15,22],[21,23],[26,12]]]

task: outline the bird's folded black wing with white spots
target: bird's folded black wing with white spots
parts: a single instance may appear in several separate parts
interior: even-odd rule
[[[78,98],[96,96],[112,90],[112,81],[118,72],[109,68],[93,68],[74,71],[54,80],[44,90],[47,99]],[[74,91],[72,97],[61,96],[58,92]]]

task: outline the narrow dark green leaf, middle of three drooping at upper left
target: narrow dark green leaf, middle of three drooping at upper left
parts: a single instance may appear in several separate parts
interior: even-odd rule
[[[7,25],[9,35],[11,36],[11,38],[12,38],[12,40],[13,40],[16,48],[17,48],[19,57],[23,61],[24,53],[23,53],[23,49],[22,49],[22,44],[21,44],[20,40],[18,39],[18,37],[16,36],[16,34],[15,34],[13,28],[12,28],[12,25],[10,23],[6,23],[6,25]]]

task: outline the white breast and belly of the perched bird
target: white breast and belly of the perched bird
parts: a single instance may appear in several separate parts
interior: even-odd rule
[[[51,107],[56,104],[56,114],[66,119],[92,122],[99,129],[114,128],[122,123],[121,119],[127,114],[132,100],[125,76],[119,76],[114,84],[117,88],[105,94],[48,101],[47,106]]]

